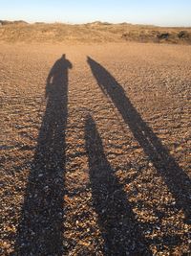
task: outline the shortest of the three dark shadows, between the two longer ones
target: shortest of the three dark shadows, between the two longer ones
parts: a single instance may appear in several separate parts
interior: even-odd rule
[[[93,206],[104,240],[104,255],[152,255],[128,203],[123,186],[107,160],[96,123],[88,115],[85,123]]]

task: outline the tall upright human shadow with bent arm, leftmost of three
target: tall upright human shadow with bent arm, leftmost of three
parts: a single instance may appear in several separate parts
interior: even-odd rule
[[[72,64],[63,55],[55,61],[47,78],[47,105],[28,178],[13,255],[63,255],[69,68],[72,68]]]

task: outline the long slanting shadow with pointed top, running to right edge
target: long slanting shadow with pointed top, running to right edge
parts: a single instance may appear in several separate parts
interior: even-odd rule
[[[185,221],[191,221],[191,182],[169,151],[162,145],[158,136],[141,118],[136,107],[126,96],[116,79],[93,58],[88,57],[92,73],[102,92],[112,100],[129,126],[140,147],[148,155],[159,175],[162,176],[176,205],[184,212]]]

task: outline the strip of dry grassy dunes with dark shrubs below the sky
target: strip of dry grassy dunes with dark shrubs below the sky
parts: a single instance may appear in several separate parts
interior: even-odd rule
[[[120,42],[140,41],[191,44],[191,28],[93,22],[81,25],[27,24],[23,21],[1,22],[0,38],[7,42]]]

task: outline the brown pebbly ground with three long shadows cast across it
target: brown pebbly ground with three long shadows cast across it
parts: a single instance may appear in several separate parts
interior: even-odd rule
[[[190,60],[0,45],[1,255],[189,254]]]

